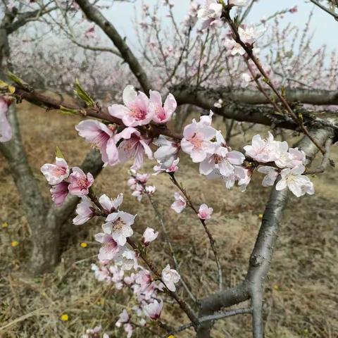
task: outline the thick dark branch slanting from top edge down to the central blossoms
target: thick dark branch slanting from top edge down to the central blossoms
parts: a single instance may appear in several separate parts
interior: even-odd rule
[[[126,44],[125,39],[123,39],[115,27],[101,14],[101,12],[92,6],[87,0],[75,0],[75,2],[80,6],[83,13],[87,16],[87,19],[96,23],[101,30],[103,30],[106,35],[111,39],[115,47],[120,51],[122,58],[129,65],[132,73],[139,80],[144,92],[148,93],[151,89],[150,81],[142,68],[142,65],[139,63],[137,58],[134,56],[129,46]]]

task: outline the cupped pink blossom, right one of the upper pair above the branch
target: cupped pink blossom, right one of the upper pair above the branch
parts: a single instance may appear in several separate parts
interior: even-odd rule
[[[162,98],[159,92],[151,90],[149,94],[149,112],[153,116],[153,121],[155,123],[168,122],[177,107],[177,102],[173,94],[168,94],[164,106],[162,106]]]

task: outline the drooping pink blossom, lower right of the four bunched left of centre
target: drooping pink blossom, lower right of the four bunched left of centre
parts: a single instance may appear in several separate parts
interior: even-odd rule
[[[132,165],[133,170],[139,170],[143,165],[143,156],[146,154],[148,158],[153,158],[153,153],[149,147],[151,139],[145,139],[141,133],[132,128],[125,128],[117,135],[117,139],[123,139],[118,146],[118,158],[120,162],[134,158]]]

